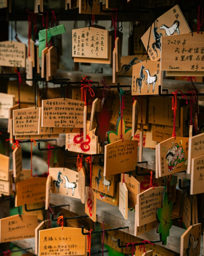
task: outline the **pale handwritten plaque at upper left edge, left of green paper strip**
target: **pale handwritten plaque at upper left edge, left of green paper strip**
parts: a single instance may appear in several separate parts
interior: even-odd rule
[[[15,41],[1,42],[0,55],[0,66],[25,68],[25,44]]]

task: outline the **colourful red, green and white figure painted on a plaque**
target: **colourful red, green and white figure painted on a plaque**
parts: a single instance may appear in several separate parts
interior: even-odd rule
[[[185,159],[185,152],[181,144],[182,141],[180,141],[180,146],[178,143],[174,144],[172,141],[172,148],[168,149],[167,151],[166,161],[170,173],[175,169],[177,164],[184,162],[184,164],[187,165],[187,159]]]

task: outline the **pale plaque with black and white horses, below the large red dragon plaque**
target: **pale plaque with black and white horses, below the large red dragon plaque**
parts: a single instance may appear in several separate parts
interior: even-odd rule
[[[49,168],[51,193],[80,198],[78,193],[78,172],[68,168]]]

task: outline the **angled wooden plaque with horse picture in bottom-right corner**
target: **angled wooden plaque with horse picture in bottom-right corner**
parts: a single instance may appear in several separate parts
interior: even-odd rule
[[[180,256],[200,255],[201,223],[190,226],[180,237]]]

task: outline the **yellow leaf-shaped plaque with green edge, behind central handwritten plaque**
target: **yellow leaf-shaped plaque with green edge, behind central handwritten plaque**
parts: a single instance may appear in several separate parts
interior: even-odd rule
[[[132,129],[126,129],[126,123],[123,118],[122,135],[124,140],[132,140]],[[115,131],[107,131],[106,139],[108,143],[121,140],[121,116],[118,117],[116,122]]]

